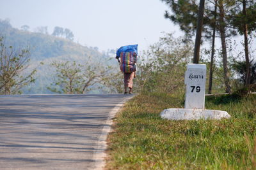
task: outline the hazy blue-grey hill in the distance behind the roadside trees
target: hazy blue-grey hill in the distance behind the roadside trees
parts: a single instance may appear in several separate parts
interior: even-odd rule
[[[50,64],[56,60],[76,60],[81,63],[89,61],[90,64],[108,62],[109,65],[115,65],[113,53],[102,53],[96,47],[83,46],[79,43],[74,43],[70,39],[51,36],[50,34],[15,29],[8,20],[0,20],[0,32],[0,36],[5,38],[6,45],[12,45],[14,48],[26,48],[27,46],[30,48],[30,69],[36,67],[38,71],[36,73],[36,82],[22,89],[24,94],[52,93],[47,90],[47,86],[51,85],[52,72],[54,72]],[[41,65],[40,62],[44,62],[44,65]],[[100,93],[102,91],[94,90],[93,92]]]

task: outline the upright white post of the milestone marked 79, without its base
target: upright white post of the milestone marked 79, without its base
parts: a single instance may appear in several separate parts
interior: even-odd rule
[[[188,64],[185,73],[186,109],[203,109],[205,101],[205,64]]]

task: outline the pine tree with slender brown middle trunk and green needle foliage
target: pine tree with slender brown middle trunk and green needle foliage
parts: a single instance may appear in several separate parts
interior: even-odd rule
[[[175,24],[180,25],[180,29],[185,31],[187,35],[194,34],[196,29],[196,19],[198,15],[198,1],[196,0],[161,0],[164,1],[173,11],[171,15],[166,11],[165,17],[172,20]],[[227,63],[227,45],[226,45],[226,37],[227,33],[231,35],[232,29],[230,32],[227,32],[227,23],[226,23],[226,14],[232,9],[235,5],[236,1],[233,0],[217,0],[217,1],[209,1],[205,5],[205,15],[204,15],[204,29],[203,32],[205,37],[208,38],[209,34],[211,34],[211,30],[213,27],[216,27],[221,37],[221,46],[222,46],[222,58],[223,58],[223,77],[225,80],[226,92],[230,92],[230,80],[228,74],[228,63]],[[217,17],[214,16],[214,11],[212,8],[218,7]]]

